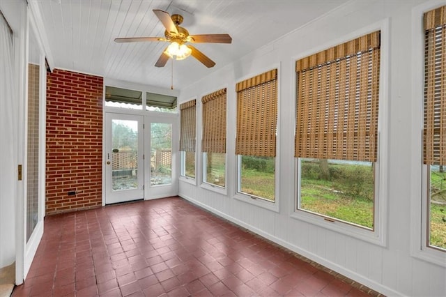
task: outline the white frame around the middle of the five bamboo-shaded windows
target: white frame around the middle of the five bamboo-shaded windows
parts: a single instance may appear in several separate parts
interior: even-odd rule
[[[280,119],[281,119],[281,104],[280,104],[280,98],[281,98],[281,66],[278,63],[272,64],[268,67],[261,68],[260,70],[253,71],[252,73],[249,73],[249,75],[245,75],[244,77],[240,77],[239,79],[236,79],[236,82],[241,82],[245,79],[249,79],[251,77],[255,77],[256,75],[259,75],[261,73],[266,73],[272,69],[277,69],[277,78],[276,78],[276,85],[277,85],[277,126],[276,126],[276,156],[275,158],[275,201],[269,201],[268,199],[262,199],[262,198],[256,198],[251,195],[247,195],[243,192],[238,192],[238,189],[240,188],[240,169],[241,169],[241,156],[242,155],[235,155],[236,156],[236,166],[233,167],[233,181],[235,181],[234,189],[233,189],[233,199],[236,199],[238,201],[246,202],[247,204],[252,204],[254,206],[259,206],[261,208],[265,208],[269,211],[274,211],[275,213],[279,213],[280,211],[280,183],[278,178],[278,173],[280,172]],[[237,129],[237,128],[235,128]],[[234,137],[235,139],[235,137]],[[227,153],[226,153],[227,155]],[[227,170],[226,170],[227,172]]]

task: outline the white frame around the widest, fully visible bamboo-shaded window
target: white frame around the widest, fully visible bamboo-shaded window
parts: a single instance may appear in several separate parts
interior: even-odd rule
[[[309,211],[300,210],[298,205],[300,204],[300,158],[295,159],[295,188],[294,199],[291,208],[290,216],[296,220],[302,220],[315,224],[325,229],[337,231],[341,234],[345,234],[354,238],[359,238],[362,241],[374,243],[380,246],[387,245],[387,158],[388,154],[386,148],[388,147],[387,132],[387,104],[388,104],[388,56],[389,56],[389,19],[385,19],[375,24],[371,24],[362,29],[358,29],[352,33],[346,34],[341,38],[332,40],[330,43],[322,45],[320,47],[309,50],[309,52],[295,56],[293,62],[298,61],[306,56],[312,55],[316,52],[328,49],[330,47],[346,43],[348,40],[353,40],[360,36],[364,36],[367,33],[380,30],[381,42],[380,42],[380,74],[379,74],[379,102],[378,102],[378,147],[377,147],[377,159],[374,162],[375,167],[375,197],[374,197],[374,228],[368,229],[353,223],[347,223],[337,219],[328,219],[327,216],[309,213]],[[295,73],[294,73],[295,75]],[[296,81],[293,79],[293,98],[297,96]]]

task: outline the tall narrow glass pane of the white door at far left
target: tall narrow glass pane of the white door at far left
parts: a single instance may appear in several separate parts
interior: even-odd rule
[[[33,33],[29,34],[28,151],[26,162],[26,242],[38,222],[39,169],[39,54]]]

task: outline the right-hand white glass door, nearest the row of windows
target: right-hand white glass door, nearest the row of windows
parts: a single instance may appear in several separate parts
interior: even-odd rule
[[[178,117],[146,116],[146,199],[178,195]]]

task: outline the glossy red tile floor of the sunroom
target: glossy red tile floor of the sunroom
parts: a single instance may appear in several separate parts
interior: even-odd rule
[[[179,197],[139,201],[47,216],[13,296],[377,295],[295,256]]]

